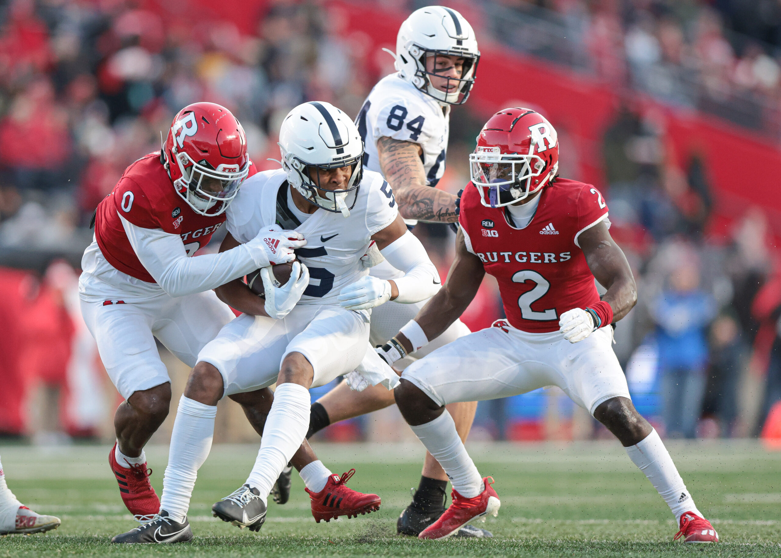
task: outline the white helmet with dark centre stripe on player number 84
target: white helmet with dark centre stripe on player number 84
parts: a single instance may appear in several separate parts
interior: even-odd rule
[[[453,82],[458,86],[454,92],[440,91],[431,84],[429,76],[437,75],[426,71],[426,56],[431,55],[464,58],[461,79],[448,78],[448,85]],[[415,10],[404,23],[401,23],[396,38],[394,58],[396,70],[415,88],[440,103],[461,105],[469,98],[469,90],[475,82],[480,51],[477,50],[477,40],[472,26],[460,13],[441,5],[430,5]]]

